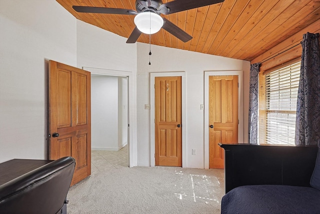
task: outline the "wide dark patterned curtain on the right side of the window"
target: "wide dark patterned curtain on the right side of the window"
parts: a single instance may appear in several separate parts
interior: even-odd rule
[[[316,145],[320,139],[319,34],[304,34],[296,104],[295,144]]]

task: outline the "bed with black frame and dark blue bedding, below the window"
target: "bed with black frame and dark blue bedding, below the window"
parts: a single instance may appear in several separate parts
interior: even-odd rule
[[[318,146],[220,145],[225,151],[221,213],[320,214]]]

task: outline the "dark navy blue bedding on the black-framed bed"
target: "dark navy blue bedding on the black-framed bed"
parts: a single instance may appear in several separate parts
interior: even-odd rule
[[[239,186],[222,197],[221,213],[320,213],[320,190],[304,186]]]

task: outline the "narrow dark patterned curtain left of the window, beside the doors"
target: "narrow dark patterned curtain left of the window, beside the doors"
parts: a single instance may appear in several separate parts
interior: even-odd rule
[[[260,63],[250,65],[248,143],[257,144]]]

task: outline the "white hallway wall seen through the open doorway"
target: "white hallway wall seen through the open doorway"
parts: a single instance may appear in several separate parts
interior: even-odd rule
[[[127,78],[91,74],[91,148],[117,151],[127,143]]]

